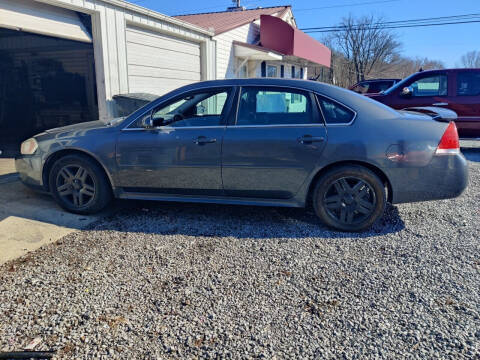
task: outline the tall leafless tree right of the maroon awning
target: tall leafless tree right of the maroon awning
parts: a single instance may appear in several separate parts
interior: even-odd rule
[[[381,19],[373,16],[353,18],[351,15],[340,23],[341,31],[333,33],[330,43],[347,61],[343,71],[356,81],[365,80],[376,70],[382,71],[398,60],[400,43],[389,30],[381,25]],[[332,64],[335,67],[335,64]],[[334,74],[339,72],[334,68]]]

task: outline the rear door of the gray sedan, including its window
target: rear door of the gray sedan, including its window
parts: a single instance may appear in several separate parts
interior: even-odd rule
[[[327,141],[312,94],[290,88],[240,89],[225,130],[222,178],[228,196],[288,199],[321,162]]]

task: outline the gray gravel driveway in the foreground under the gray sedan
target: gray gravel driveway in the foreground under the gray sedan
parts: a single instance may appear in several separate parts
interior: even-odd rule
[[[368,233],[300,209],[128,203],[0,268],[0,349],[59,358],[480,358],[480,156]]]

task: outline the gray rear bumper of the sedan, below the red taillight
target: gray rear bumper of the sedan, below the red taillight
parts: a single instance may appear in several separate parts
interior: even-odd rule
[[[392,203],[441,200],[457,197],[468,185],[468,165],[462,154],[437,155],[425,167],[396,169],[391,177]]]

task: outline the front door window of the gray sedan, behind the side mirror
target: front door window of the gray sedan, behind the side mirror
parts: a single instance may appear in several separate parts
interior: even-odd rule
[[[137,119],[130,127],[142,127],[144,117],[151,116],[158,126],[219,126],[222,125],[222,113],[229,91],[216,89],[189,93],[163,104],[143,117]]]

